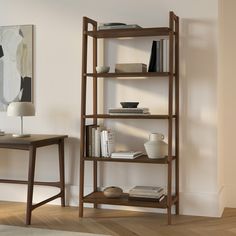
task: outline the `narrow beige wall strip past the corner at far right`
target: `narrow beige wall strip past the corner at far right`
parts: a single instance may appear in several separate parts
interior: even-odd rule
[[[219,156],[221,172],[224,178],[221,181],[225,186],[225,206],[236,207],[235,184],[235,55],[236,29],[234,13],[236,2],[233,0],[220,1],[219,5]]]

